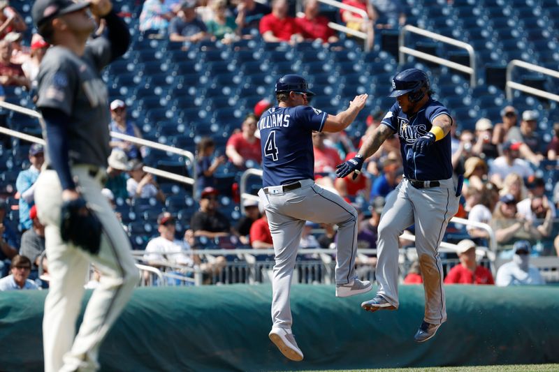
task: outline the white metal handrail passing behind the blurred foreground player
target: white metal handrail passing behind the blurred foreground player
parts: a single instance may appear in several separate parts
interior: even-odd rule
[[[0,107],[6,108],[7,110],[12,110],[15,112],[20,112],[20,114],[27,114],[30,117],[34,117],[36,119],[38,119],[38,121],[41,123],[41,126],[44,128],[44,122],[43,122],[43,117],[41,116],[40,113],[36,112],[35,110],[31,110],[29,108],[26,107],[21,107],[18,105],[13,105],[12,103],[8,103],[8,102],[3,102],[0,101]],[[35,137],[34,135],[28,135],[27,133],[22,133],[22,132],[18,132],[18,131],[14,131],[13,129],[10,128],[5,128],[0,126],[0,133],[3,133],[5,135],[10,135],[12,137],[17,137],[20,138],[21,140],[27,141],[27,142],[34,142],[34,143],[38,143],[38,144],[45,144],[45,140],[43,140],[43,138],[40,137]],[[155,176],[158,177],[164,177],[166,179],[172,179],[173,181],[177,181],[177,182],[181,182],[183,184],[189,184],[192,186],[192,193],[193,193],[193,197],[196,198],[196,158],[194,158],[194,154],[192,154],[190,151],[184,150],[184,149],[179,149],[177,147],[173,147],[173,146],[168,146],[167,144],[160,144],[158,142],[153,142],[153,141],[149,141],[149,140],[144,140],[143,138],[138,138],[138,137],[134,137],[131,135],[125,135],[122,133],[118,133],[118,132],[110,132],[111,137],[115,137],[115,138],[119,138],[120,140],[125,140],[128,142],[131,142],[133,144],[138,144],[140,146],[146,146],[146,147],[150,147],[152,149],[157,149],[157,150],[161,150],[161,151],[166,151],[166,152],[170,152],[172,154],[177,154],[180,156],[184,156],[185,158],[188,159],[188,161],[185,162],[185,165],[187,168],[190,168],[192,170],[192,177],[185,177],[182,176],[180,174],[175,174],[173,172],[168,172],[166,170],[159,170],[157,168],[152,168],[152,167],[148,167],[148,166],[144,166],[143,170],[145,172],[154,174]]]

